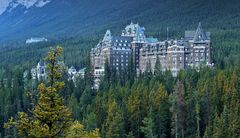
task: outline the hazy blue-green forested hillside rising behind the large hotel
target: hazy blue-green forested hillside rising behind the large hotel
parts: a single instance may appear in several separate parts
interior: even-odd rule
[[[6,64],[26,64],[26,59],[29,59],[28,57],[30,55],[32,57],[30,61],[36,62],[36,60],[39,60],[39,55],[43,54],[42,50],[45,49],[44,51],[46,51],[48,46],[54,44],[63,45],[67,55],[73,53],[81,56],[84,53],[86,54],[86,51],[94,47],[97,42],[102,39],[106,29],[111,29],[114,34],[119,35],[122,29],[131,21],[139,22],[140,25],[146,28],[146,34],[148,36],[155,36],[160,40],[166,39],[167,27],[169,27],[169,37],[175,39],[183,37],[185,30],[195,30],[198,22],[201,21],[204,29],[212,33],[214,63],[223,65],[225,64],[224,62],[238,59],[238,43],[240,40],[240,2],[238,0],[117,0],[113,2],[105,0],[95,1],[93,4],[90,1],[81,2],[68,1],[65,4],[63,4],[64,2],[59,2],[58,6],[63,4],[62,6],[66,6],[62,7],[64,10],[71,11],[64,11],[64,14],[61,14],[61,11],[51,11],[51,13],[54,13],[48,16],[51,22],[45,22],[33,28],[31,26],[34,26],[34,23],[31,23],[30,26],[27,25],[30,28],[26,29],[19,25],[24,32],[14,34],[8,34],[8,31],[11,32],[11,29],[16,31],[18,30],[17,28],[4,25],[8,21],[13,22],[14,20],[11,19],[14,15],[11,15],[11,18],[9,17],[8,20],[4,18],[7,15],[0,17],[0,22],[4,23],[1,27],[6,29],[6,31],[0,31],[4,38],[14,39],[15,35],[25,36],[28,29],[36,33],[36,35],[33,36],[38,36],[38,31],[35,29],[41,30],[41,34],[44,36],[50,35],[48,32],[58,36],[58,38],[50,39],[51,41],[48,44],[25,45],[26,38],[22,38],[22,40],[15,39],[14,41],[0,44],[0,67]],[[52,3],[53,5],[49,6],[54,6],[54,2]],[[79,5],[81,6],[79,7]],[[48,12],[50,9],[57,9],[53,7],[46,8],[46,11],[43,13]],[[37,13],[29,16],[38,16],[35,14]],[[30,19],[30,17],[27,16],[19,18]],[[44,21],[48,18],[41,20]],[[60,19],[61,22],[58,22]],[[70,20],[71,22],[69,22]],[[35,18],[31,19],[31,21],[38,22]],[[29,22],[30,21],[26,20],[26,23]],[[85,22],[92,24],[81,27],[83,24],[88,24]],[[57,25],[51,25],[52,23],[56,23]],[[47,26],[47,28],[42,28],[44,26]],[[87,31],[84,33],[82,32],[83,30]],[[59,34],[59,31],[62,31],[62,34]],[[71,35],[71,33],[76,34]],[[32,37],[32,35],[29,35],[27,38],[29,37]],[[16,47],[17,50],[15,49]],[[83,54],[81,53],[82,51],[84,51]],[[76,59],[80,61],[80,58],[81,57]],[[74,64],[76,66],[83,64],[82,62],[71,61],[71,56],[66,57],[66,60],[70,60],[67,64]],[[234,62],[229,63],[233,64]]]

